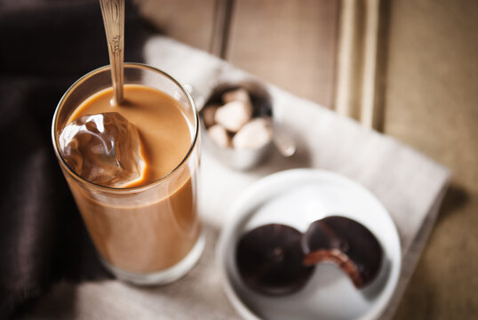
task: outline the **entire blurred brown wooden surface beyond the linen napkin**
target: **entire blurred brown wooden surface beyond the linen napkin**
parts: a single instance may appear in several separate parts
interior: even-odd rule
[[[362,83],[339,63],[343,13],[367,42],[380,23],[371,61],[381,131],[453,172],[434,232],[396,319],[471,319],[478,314],[478,2],[474,0],[136,0],[141,14],[179,41],[326,108],[355,115]],[[375,6],[379,4],[379,7]],[[379,20],[371,12],[378,10]],[[351,9],[352,8],[352,9]],[[365,9],[364,9],[365,8]],[[366,10],[367,9],[367,10]],[[370,8],[369,8],[370,9]],[[342,15],[341,15],[342,13]],[[355,16],[354,16],[355,15]],[[357,21],[358,24],[357,24]],[[360,36],[362,35],[362,38]],[[349,40],[352,48],[356,37]],[[372,42],[373,43],[373,42]],[[341,46],[339,46],[339,44]],[[369,43],[370,44],[370,43]],[[373,45],[372,45],[373,48]],[[373,52],[373,50],[372,50]],[[370,58],[370,56],[369,56]],[[358,61],[358,62],[357,62]],[[370,59],[369,59],[370,62]],[[341,66],[341,67],[340,67]],[[339,68],[340,67],[340,68]],[[372,66],[373,67],[373,66]],[[347,99],[337,87],[350,76]],[[370,82],[371,81],[371,82]],[[358,93],[357,93],[358,92]],[[370,91],[369,91],[370,92]],[[350,93],[350,92],[349,92]],[[370,98],[370,97],[365,97]],[[345,107],[344,107],[345,106]],[[374,111],[375,112],[375,111]],[[363,121],[362,121],[363,122]]]

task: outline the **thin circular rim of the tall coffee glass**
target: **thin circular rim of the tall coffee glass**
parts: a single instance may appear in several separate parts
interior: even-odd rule
[[[155,72],[156,74],[160,74],[161,76],[165,76],[166,78],[171,80],[171,82],[173,84],[176,84],[183,93],[186,94],[187,100],[189,101],[189,104],[193,108],[193,114],[194,114],[194,119],[195,119],[193,140],[191,141],[191,145],[190,145],[189,149],[187,150],[186,155],[182,158],[182,160],[179,162],[179,164],[171,170],[171,172],[166,173],[165,175],[163,175],[163,177],[159,178],[158,180],[154,180],[152,182],[149,182],[149,183],[147,183],[145,185],[141,185],[141,186],[126,187],[126,188],[108,187],[108,186],[103,186],[103,185],[94,183],[90,180],[84,179],[79,174],[77,174],[72,168],[70,168],[69,165],[66,163],[65,159],[63,158],[63,156],[61,156],[60,148],[58,147],[59,146],[59,140],[58,140],[59,137],[57,137],[56,130],[55,130],[55,128],[57,126],[57,123],[58,123],[58,117],[59,117],[61,108],[65,104],[65,101],[68,100],[68,97],[70,96],[71,92],[74,92],[75,89],[78,87],[78,85],[83,84],[85,81],[87,81],[92,76],[95,76],[95,75],[97,75],[101,72],[104,72],[105,70],[108,70],[110,68],[111,68],[111,65],[103,66],[103,67],[96,68],[96,69],[88,72],[84,76],[81,76],[78,80],[76,80],[76,82],[74,84],[71,84],[71,86],[68,88],[68,90],[61,97],[57,107],[55,108],[55,112],[53,114],[53,119],[52,119],[52,144],[53,144],[53,149],[55,151],[55,155],[57,156],[57,159],[60,160],[60,165],[64,169],[67,170],[67,172],[70,174],[71,177],[73,177],[76,181],[78,181],[80,183],[83,183],[83,184],[85,184],[89,187],[100,188],[103,191],[115,191],[115,192],[121,192],[121,193],[130,193],[130,192],[134,192],[134,191],[143,191],[143,190],[146,190],[146,189],[149,189],[149,188],[154,188],[155,186],[162,184],[163,181],[168,180],[175,172],[178,172],[179,169],[184,164],[187,163],[187,159],[193,153],[193,151],[194,151],[194,149],[197,145],[197,140],[198,140],[198,137],[199,137],[199,116],[198,116],[197,108],[195,106],[195,101],[191,97],[191,94],[187,91],[187,89],[184,85],[179,83],[178,80],[176,80],[173,76],[169,75],[168,73],[164,72],[163,70],[160,70],[159,68],[151,67],[147,64],[139,63],[139,62],[124,62],[124,68],[147,69],[149,71]]]

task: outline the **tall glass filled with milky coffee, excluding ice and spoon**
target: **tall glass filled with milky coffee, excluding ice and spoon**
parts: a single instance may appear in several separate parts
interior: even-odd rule
[[[196,212],[197,112],[187,91],[160,70],[126,64],[124,80],[121,106],[110,103],[109,68],[73,84],[53,117],[53,146],[105,266],[135,284],[162,284],[186,274],[203,252]],[[141,177],[120,187],[85,179],[75,166],[82,159],[72,162],[62,153],[61,132],[68,124],[111,112],[137,129],[144,159]]]

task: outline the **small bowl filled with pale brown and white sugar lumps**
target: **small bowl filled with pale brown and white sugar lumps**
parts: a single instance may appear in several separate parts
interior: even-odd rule
[[[204,148],[223,164],[251,169],[272,149],[272,114],[272,99],[264,85],[220,84],[200,112]]]

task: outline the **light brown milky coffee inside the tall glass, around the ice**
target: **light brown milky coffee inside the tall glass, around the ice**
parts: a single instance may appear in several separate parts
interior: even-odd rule
[[[79,116],[118,112],[138,131],[147,173],[136,186],[172,172],[191,147],[192,134],[179,102],[140,84],[124,85],[124,103],[111,106],[112,89],[97,92],[76,108]],[[200,224],[196,214],[195,170],[183,165],[146,191],[105,200],[101,191],[69,183],[84,222],[103,258],[117,268],[149,273],[170,268],[193,248]],[[128,186],[132,187],[132,186]]]

